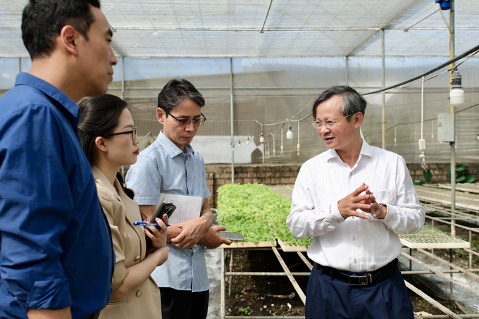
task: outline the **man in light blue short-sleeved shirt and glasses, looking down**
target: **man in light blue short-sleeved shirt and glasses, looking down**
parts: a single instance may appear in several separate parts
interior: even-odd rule
[[[154,214],[160,193],[203,199],[199,218],[168,227],[168,261],[152,273],[160,287],[163,319],[206,318],[209,281],[204,247],[231,244],[219,234],[226,227],[211,226],[211,194],[206,187],[204,161],[189,145],[206,120],[201,114],[204,104],[203,96],[189,81],[170,80],[158,94],[156,118],[163,130],[139,154],[126,175],[126,183],[135,191],[135,201],[148,219]]]

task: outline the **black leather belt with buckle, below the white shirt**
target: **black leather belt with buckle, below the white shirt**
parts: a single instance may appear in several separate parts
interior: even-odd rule
[[[397,258],[378,270],[374,270],[371,273],[359,273],[360,275],[348,275],[341,273],[340,270],[331,267],[324,267],[316,262],[313,265],[314,268],[319,270],[321,275],[332,275],[333,279],[347,282],[352,286],[367,286],[368,284],[375,284],[380,280],[385,280],[401,272]]]

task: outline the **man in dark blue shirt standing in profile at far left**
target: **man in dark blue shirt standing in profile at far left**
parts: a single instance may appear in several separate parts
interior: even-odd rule
[[[96,318],[113,248],[77,139],[76,101],[106,93],[117,61],[98,0],[31,0],[30,73],[0,98],[0,317]]]

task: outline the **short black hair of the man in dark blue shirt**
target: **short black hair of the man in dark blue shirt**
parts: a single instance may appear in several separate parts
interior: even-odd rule
[[[88,40],[95,18],[89,5],[100,8],[99,0],[30,0],[23,9],[23,44],[30,58],[49,56],[55,38],[65,25],[71,25]]]

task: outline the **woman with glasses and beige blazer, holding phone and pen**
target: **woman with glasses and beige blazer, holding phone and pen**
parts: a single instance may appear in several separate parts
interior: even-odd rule
[[[125,101],[109,94],[83,99],[80,113],[78,136],[92,166],[116,256],[111,300],[99,318],[161,318],[161,296],[150,274],[168,258],[167,228],[159,218],[158,228],[133,225],[144,218],[118,173],[122,165],[137,161],[139,138],[132,115]],[[149,247],[145,235],[151,239]]]

